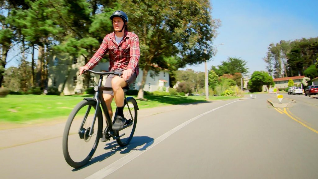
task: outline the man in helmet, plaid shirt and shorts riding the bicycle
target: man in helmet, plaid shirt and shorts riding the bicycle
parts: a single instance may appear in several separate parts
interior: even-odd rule
[[[122,88],[135,82],[139,74],[139,38],[133,32],[128,32],[128,16],[123,11],[115,11],[110,16],[114,32],[107,34],[97,52],[90,61],[79,68],[79,75],[86,69],[94,68],[107,52],[109,52],[109,71],[122,72],[122,76],[108,75],[105,86],[112,87],[113,91],[103,91],[103,97],[110,117],[113,116],[111,103],[113,98],[117,106],[117,116],[113,125],[114,130],[120,130],[130,121],[124,118],[124,91]],[[102,141],[105,139],[105,131]]]

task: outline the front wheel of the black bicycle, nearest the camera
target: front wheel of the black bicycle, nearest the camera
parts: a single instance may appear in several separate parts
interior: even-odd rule
[[[67,119],[62,145],[64,158],[71,167],[84,166],[95,153],[101,136],[98,121],[102,121],[100,111],[92,128],[95,108],[96,101],[83,100],[75,106]],[[98,120],[99,118],[101,120]],[[93,134],[89,136],[91,130]]]

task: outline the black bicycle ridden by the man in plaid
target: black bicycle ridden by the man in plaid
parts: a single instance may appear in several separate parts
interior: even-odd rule
[[[103,91],[113,90],[103,87],[102,81],[106,75],[122,75],[119,72],[96,72],[86,70],[84,73],[100,75],[98,85],[94,87],[94,97],[84,98],[77,104],[69,115],[63,133],[63,154],[66,162],[74,168],[84,166],[96,151],[99,139],[103,136],[103,114],[106,117],[106,139],[113,138],[120,146],[126,146],[132,139],[136,124],[138,105],[133,97],[125,95],[124,117],[131,119],[129,124],[124,125],[121,130],[113,130],[113,121],[109,116]],[[124,89],[126,92],[129,86]],[[117,109],[114,117],[117,115]],[[97,121],[96,121],[97,118]],[[126,138],[123,138],[126,136]]]

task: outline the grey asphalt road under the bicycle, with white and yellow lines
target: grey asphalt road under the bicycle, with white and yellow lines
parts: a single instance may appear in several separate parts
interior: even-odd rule
[[[129,146],[100,142],[79,169],[61,137],[5,148],[0,178],[318,178],[318,99],[284,94],[296,103],[275,109],[273,97],[158,111],[138,120]]]

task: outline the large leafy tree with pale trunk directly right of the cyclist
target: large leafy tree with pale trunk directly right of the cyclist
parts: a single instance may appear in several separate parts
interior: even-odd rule
[[[211,46],[218,22],[211,18],[208,0],[124,0],[129,28],[139,36],[143,70],[137,98],[143,98],[148,71],[165,68],[166,57],[179,57],[176,66],[198,64],[213,55]],[[204,53],[206,50],[207,54]]]

